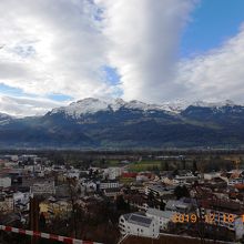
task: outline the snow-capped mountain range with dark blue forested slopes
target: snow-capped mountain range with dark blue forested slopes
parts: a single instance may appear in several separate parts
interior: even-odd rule
[[[244,145],[244,105],[88,98],[41,116],[0,113],[0,148],[164,149]]]

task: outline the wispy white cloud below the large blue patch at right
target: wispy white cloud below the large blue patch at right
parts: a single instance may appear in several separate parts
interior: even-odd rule
[[[222,47],[179,63],[177,83],[185,87],[182,96],[244,102],[243,64],[244,27]]]

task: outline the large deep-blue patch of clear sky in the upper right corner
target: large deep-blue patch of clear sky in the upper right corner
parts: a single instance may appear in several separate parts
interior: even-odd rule
[[[217,48],[235,35],[244,21],[244,1],[202,0],[191,18],[181,39],[183,58]]]

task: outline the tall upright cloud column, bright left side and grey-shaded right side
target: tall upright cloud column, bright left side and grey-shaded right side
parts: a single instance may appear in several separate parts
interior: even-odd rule
[[[176,95],[174,83],[181,30],[194,0],[96,0],[103,33],[110,40],[109,62],[121,75],[126,100],[163,101]]]

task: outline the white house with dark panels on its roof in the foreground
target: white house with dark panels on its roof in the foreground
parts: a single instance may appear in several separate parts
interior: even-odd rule
[[[119,227],[122,235],[131,234],[156,238],[160,234],[159,222],[140,213],[121,215]]]

